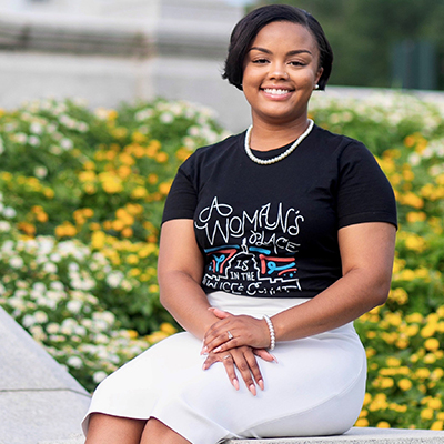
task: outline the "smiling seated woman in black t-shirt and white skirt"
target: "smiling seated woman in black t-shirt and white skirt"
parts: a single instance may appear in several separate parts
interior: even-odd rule
[[[332,59],[296,8],[263,7],[235,27],[224,78],[243,90],[253,125],[184,162],[163,216],[161,301],[186,332],[98,387],[88,444],[354,424],[366,364],[353,320],[386,300],[396,210],[372,154],[307,119]]]

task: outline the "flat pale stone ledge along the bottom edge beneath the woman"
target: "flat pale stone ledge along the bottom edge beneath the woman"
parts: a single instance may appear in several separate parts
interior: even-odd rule
[[[224,444],[444,444],[444,432],[401,428],[353,427],[340,436],[229,440]],[[38,444],[84,444],[82,435]],[[209,443],[212,444],[212,443]]]

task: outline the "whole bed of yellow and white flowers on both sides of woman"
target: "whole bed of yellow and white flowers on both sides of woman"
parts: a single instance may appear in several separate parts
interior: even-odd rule
[[[369,356],[356,425],[442,430],[444,112],[316,93],[311,113],[377,155],[398,202],[389,301],[356,321]],[[155,279],[161,212],[179,164],[223,137],[210,110],[163,100],[0,115],[0,303],[88,390],[175,331]]]

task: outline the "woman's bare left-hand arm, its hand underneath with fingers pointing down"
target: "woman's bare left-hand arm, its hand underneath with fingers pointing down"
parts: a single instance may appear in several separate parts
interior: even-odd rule
[[[158,262],[160,301],[188,332],[199,339],[203,339],[209,327],[219,321],[209,310],[206,294],[201,287],[202,274],[203,258],[195,241],[193,221],[178,219],[165,222]],[[231,383],[239,390],[236,366],[249,390],[255,394],[255,384],[262,390],[264,386],[255,355],[273,361],[265,350],[240,346],[230,353],[211,353],[203,370],[222,362]]]

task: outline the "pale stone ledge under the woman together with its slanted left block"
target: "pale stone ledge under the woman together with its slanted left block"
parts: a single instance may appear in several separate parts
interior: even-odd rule
[[[0,444],[84,444],[90,395],[0,307]],[[353,427],[340,436],[224,444],[444,444],[444,432]],[[213,443],[209,443],[213,444]],[[215,443],[214,443],[215,444]]]

